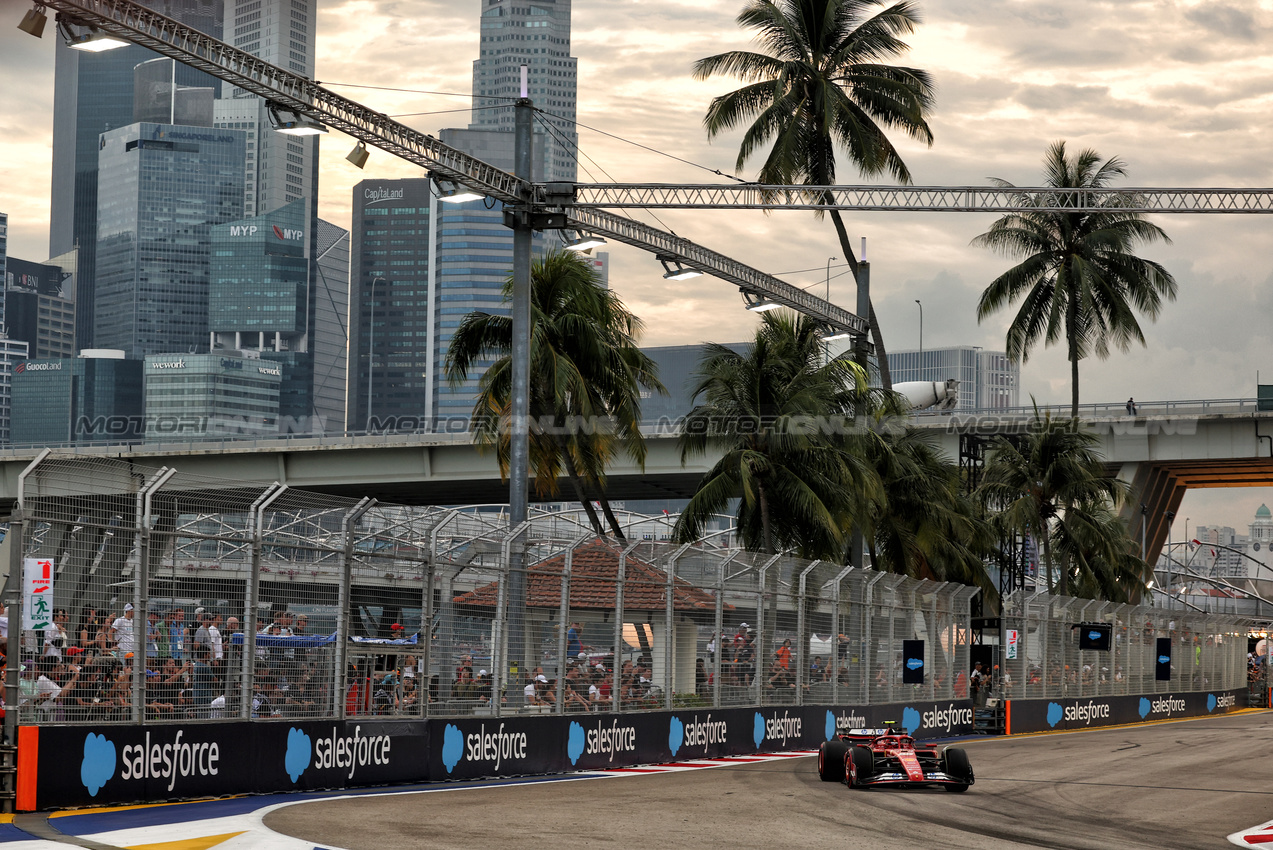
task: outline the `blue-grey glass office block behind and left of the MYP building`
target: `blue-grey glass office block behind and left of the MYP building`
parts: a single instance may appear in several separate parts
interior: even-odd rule
[[[135,123],[101,144],[97,347],[204,350],[211,228],[243,218],[244,134]]]

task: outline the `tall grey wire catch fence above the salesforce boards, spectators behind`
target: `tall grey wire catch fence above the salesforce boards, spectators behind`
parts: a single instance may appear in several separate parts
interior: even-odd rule
[[[965,585],[719,538],[675,546],[657,519],[626,541],[572,513],[510,532],[500,506],[386,505],[102,458],[46,457],[20,492],[10,570],[31,612],[47,569],[41,611],[56,615],[15,636],[24,669],[8,702],[24,724],[969,697]],[[1134,640],[1151,626],[1198,646],[1167,687],[1245,681],[1236,621],[1043,594],[1013,604],[1011,696],[1162,690]],[[1071,629],[1101,620],[1124,629],[1106,662]],[[922,685],[903,682],[906,640],[923,641]],[[1071,679],[1066,665],[1122,677]]]

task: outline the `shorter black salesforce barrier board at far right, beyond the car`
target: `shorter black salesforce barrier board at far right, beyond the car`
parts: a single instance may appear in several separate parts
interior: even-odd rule
[[[1190,691],[1059,700],[1011,700],[1009,732],[1088,729],[1127,723],[1200,718],[1246,707],[1246,690]]]

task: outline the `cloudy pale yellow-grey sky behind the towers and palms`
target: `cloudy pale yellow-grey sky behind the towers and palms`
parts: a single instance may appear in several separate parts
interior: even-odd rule
[[[710,98],[728,79],[694,81],[695,59],[747,48],[735,17],[741,0],[575,0],[573,55],[579,59],[578,120],[587,172],[580,181],[715,182],[703,168],[732,172],[737,137],[703,131]],[[929,70],[938,87],[932,148],[895,139],[917,185],[985,185],[1002,177],[1037,185],[1046,145],[1063,139],[1127,163],[1127,186],[1273,186],[1273,0],[919,0],[924,15],[904,62]],[[53,46],[15,28],[27,8],[0,0],[0,211],[9,214],[9,253],[47,257]],[[378,111],[437,132],[468,122],[477,56],[477,0],[318,0],[321,81]],[[11,19],[11,20],[10,20]],[[1265,45],[1264,48],[1260,45]],[[339,84],[421,93],[344,88]],[[603,130],[626,144],[592,132]],[[323,218],[350,223],[350,188],[365,177],[419,172],[373,151],[364,172],[344,155],[351,143],[323,140]],[[742,174],[751,176],[752,168]],[[857,176],[841,168],[841,182]],[[643,220],[659,225],[649,214]],[[811,212],[659,212],[662,225],[796,285],[821,291],[827,260],[840,253],[829,220]],[[976,298],[1007,261],[969,246],[993,216],[848,214],[854,242],[868,240],[876,310],[890,349],[1002,349],[1007,317],[979,324]],[[1172,239],[1144,251],[1176,276],[1180,295],[1148,345],[1081,366],[1083,401],[1234,398],[1255,394],[1256,372],[1273,383],[1270,220],[1256,215],[1162,215]],[[611,251],[611,285],[647,322],[652,345],[749,336],[754,317],[737,291],[714,279],[662,280],[652,257]],[[843,261],[831,262],[831,299],[852,308]],[[838,276],[839,275],[839,276]],[[1022,401],[1069,398],[1059,349],[1022,368]],[[1211,491],[1186,499],[1194,524],[1245,531],[1267,491]]]

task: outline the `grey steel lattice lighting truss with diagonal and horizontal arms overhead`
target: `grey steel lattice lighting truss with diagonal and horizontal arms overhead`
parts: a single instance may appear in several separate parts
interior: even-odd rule
[[[773,275],[689,239],[603,211],[610,209],[1012,210],[1118,206],[1141,212],[1273,212],[1273,190],[1097,190],[871,186],[536,185],[442,144],[313,80],[185,27],[135,0],[41,0],[64,20],[149,47],[265,98],[280,109],[323,122],[420,165],[435,177],[537,214],[564,210],[568,226],[651,251],[799,310],[835,331],[866,332],[866,321]]]

